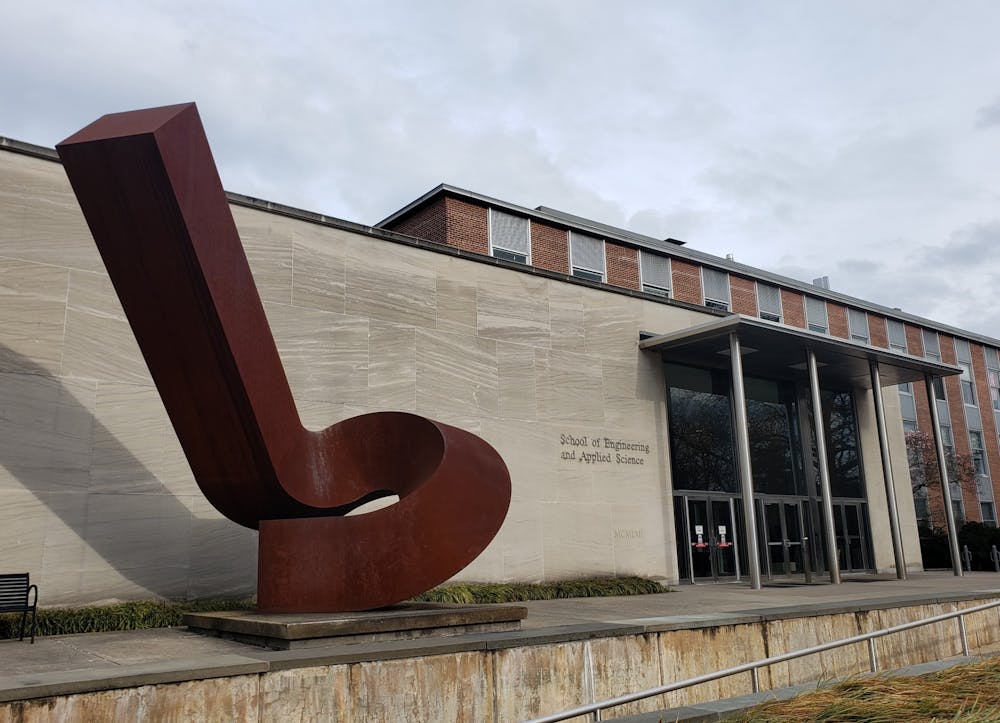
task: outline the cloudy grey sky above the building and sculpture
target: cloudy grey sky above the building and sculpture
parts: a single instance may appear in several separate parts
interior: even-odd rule
[[[35,0],[0,135],[196,101],[228,190],[445,182],[1000,337],[1000,3]]]

